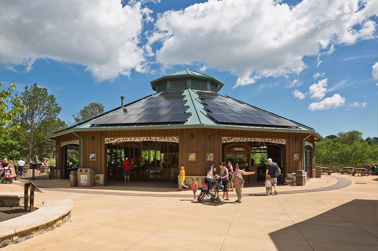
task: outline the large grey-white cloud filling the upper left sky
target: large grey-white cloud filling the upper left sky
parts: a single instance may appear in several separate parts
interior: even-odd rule
[[[5,64],[25,66],[38,59],[86,66],[97,81],[143,72],[146,60],[138,45],[151,11],[121,1],[4,1],[1,52]]]

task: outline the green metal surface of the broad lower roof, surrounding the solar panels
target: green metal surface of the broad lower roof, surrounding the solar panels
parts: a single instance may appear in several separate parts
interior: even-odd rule
[[[174,74],[174,73],[172,73]],[[181,75],[181,74],[180,74]],[[210,91],[209,91],[210,92]],[[150,96],[146,96],[142,99],[134,101],[125,105],[125,107],[117,107],[116,109],[110,110],[106,113],[93,117],[91,119],[87,119],[81,123],[76,125],[66,127],[65,129],[59,130],[49,136],[47,138],[55,138],[59,135],[64,135],[70,132],[78,132],[78,131],[106,131],[106,130],[150,130],[150,129],[177,129],[177,128],[218,128],[218,129],[234,129],[234,130],[253,130],[253,131],[270,131],[270,132],[297,132],[297,133],[312,133],[317,139],[323,139],[318,132],[316,132],[313,128],[304,126],[298,122],[294,122],[296,126],[287,126],[287,127],[272,127],[272,126],[263,126],[263,125],[248,125],[248,124],[225,124],[225,123],[218,123],[216,122],[211,116],[207,114],[207,109],[204,107],[203,102],[200,99],[200,96],[197,93],[197,90],[193,89],[185,89],[183,90],[183,94],[185,96],[184,100],[186,100],[185,106],[189,106],[186,110],[186,113],[191,113],[191,116],[187,119],[187,121],[183,123],[150,123],[150,124],[118,124],[118,125],[93,125],[91,124],[93,121],[103,118],[104,116],[112,116],[114,113],[118,112],[122,109],[127,109],[132,107],[134,104],[146,101],[150,97],[158,96],[160,93],[156,93]],[[223,95],[222,95],[223,96]],[[228,96],[225,96],[230,98]],[[234,99],[240,104],[244,104],[241,101]],[[249,105],[250,106],[250,105]],[[260,111],[264,111],[254,106],[250,106],[253,109],[257,109]],[[266,111],[264,111],[266,112]],[[269,113],[269,112],[268,112]],[[278,118],[283,118],[281,116],[275,115],[270,113]],[[285,119],[285,118],[283,118]]]

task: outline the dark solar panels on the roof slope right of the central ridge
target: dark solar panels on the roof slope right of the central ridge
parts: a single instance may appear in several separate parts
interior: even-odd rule
[[[216,122],[232,124],[251,124],[264,126],[298,126],[288,119],[258,110],[218,93],[200,92],[198,95],[209,111],[207,114]]]

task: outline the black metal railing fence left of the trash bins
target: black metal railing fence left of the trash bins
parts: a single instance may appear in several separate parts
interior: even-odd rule
[[[54,166],[49,166],[49,167],[24,166],[21,172],[19,172],[18,167],[15,167],[14,169],[17,172],[17,178],[31,179],[33,181],[38,180],[38,179],[57,179],[57,173],[55,171]]]

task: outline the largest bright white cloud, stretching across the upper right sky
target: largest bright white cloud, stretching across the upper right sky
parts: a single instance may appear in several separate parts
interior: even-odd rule
[[[235,86],[263,77],[299,73],[304,56],[334,51],[334,44],[374,38],[376,1],[223,0],[195,4],[159,15],[147,50],[156,41],[156,62],[205,63],[238,76]],[[330,46],[330,44],[332,44]],[[321,63],[318,59],[318,65]]]

